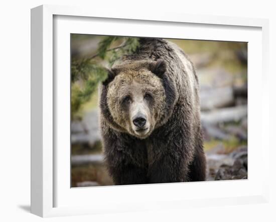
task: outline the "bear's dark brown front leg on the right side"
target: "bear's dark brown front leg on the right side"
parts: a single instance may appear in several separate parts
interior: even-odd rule
[[[166,132],[167,128],[173,130]],[[167,128],[161,128],[148,142],[149,183],[190,181],[189,164],[194,148],[191,140],[185,138],[191,138],[191,131],[176,124]]]

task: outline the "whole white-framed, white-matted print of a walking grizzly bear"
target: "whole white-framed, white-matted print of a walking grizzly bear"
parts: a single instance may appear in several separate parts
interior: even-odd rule
[[[40,6],[31,23],[32,213],[267,201],[266,20]]]

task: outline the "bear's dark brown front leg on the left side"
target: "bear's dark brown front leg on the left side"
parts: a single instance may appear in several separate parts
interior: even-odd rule
[[[104,134],[105,162],[115,185],[145,184],[147,179],[147,150],[142,141]]]

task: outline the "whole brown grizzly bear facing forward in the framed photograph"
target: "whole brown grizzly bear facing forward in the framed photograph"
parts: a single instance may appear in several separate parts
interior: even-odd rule
[[[114,184],[204,181],[199,83],[187,55],[141,38],[100,86],[100,126]]]

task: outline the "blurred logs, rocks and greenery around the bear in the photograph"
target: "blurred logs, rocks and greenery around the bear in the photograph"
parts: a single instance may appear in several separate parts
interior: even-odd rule
[[[103,162],[97,86],[138,38],[71,35],[71,187],[113,185]],[[197,70],[207,180],[247,179],[247,43],[168,39]]]

